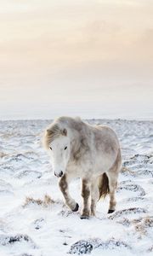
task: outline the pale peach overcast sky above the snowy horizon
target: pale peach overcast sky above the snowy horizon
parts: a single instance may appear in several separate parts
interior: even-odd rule
[[[153,117],[152,0],[0,6],[0,119]]]

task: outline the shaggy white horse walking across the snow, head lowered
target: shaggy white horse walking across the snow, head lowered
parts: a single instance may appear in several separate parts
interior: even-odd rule
[[[50,154],[54,175],[65,203],[72,211],[78,204],[69,194],[68,184],[82,178],[81,218],[95,215],[101,196],[110,195],[108,213],[116,207],[115,190],[121,170],[121,148],[116,133],[103,125],[88,125],[80,118],[59,117],[46,129],[43,144]]]

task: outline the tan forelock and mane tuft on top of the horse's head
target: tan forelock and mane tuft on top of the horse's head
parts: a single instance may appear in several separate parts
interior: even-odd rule
[[[44,132],[42,139],[43,146],[48,149],[50,143],[52,143],[55,138],[66,135],[66,129],[61,129],[57,123],[54,123]]]

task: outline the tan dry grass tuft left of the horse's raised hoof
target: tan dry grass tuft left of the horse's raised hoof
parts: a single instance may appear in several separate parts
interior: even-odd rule
[[[55,203],[55,201],[52,200],[49,195],[45,195],[43,200],[42,199],[34,199],[32,197],[27,196],[23,207],[27,207],[30,204],[37,204],[38,206],[48,207],[54,203]]]

